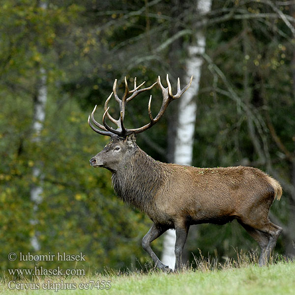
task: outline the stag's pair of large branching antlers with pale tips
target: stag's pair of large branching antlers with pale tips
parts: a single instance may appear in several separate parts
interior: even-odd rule
[[[113,92],[110,94],[110,96],[107,98],[105,104],[104,104],[104,114],[103,114],[103,117],[102,117],[102,122],[103,122],[103,125],[101,125],[100,123],[98,123],[95,119],[94,119],[94,113],[95,113],[95,110],[96,110],[96,107],[97,105],[94,107],[92,113],[91,113],[91,117],[89,116],[88,117],[88,123],[89,123],[89,126],[97,133],[99,134],[102,134],[102,135],[108,135],[108,136],[114,136],[115,134],[118,135],[118,136],[121,136],[121,137],[125,137],[126,135],[132,133],[132,132],[135,132],[135,133],[141,133],[145,130],[147,130],[148,128],[150,128],[152,125],[154,125],[156,122],[158,122],[158,120],[163,116],[164,112],[166,111],[166,108],[168,107],[169,103],[174,100],[174,99],[177,99],[179,98],[182,93],[184,91],[186,91],[191,83],[192,83],[192,79],[193,79],[193,76],[191,76],[191,79],[190,79],[190,82],[181,90],[180,89],[180,81],[179,81],[179,78],[177,79],[177,93],[175,95],[172,94],[172,88],[171,88],[171,84],[170,84],[170,81],[169,81],[169,78],[168,78],[168,74],[167,74],[167,77],[166,77],[166,80],[167,80],[167,85],[168,87],[167,88],[164,88],[162,83],[161,83],[161,79],[160,79],[160,76],[158,76],[158,81],[155,82],[154,84],[152,84],[151,86],[147,87],[147,88],[144,88],[144,89],[140,89],[144,84],[145,82],[143,82],[142,84],[140,84],[139,86],[136,86],[136,78],[134,79],[134,89],[132,90],[129,90],[128,88],[128,84],[127,84],[127,80],[126,80],[126,77],[125,77],[125,92],[123,94],[123,97],[122,99],[120,99],[118,97],[118,94],[117,94],[117,79],[115,80],[114,82],[114,85],[113,85]],[[138,95],[139,93],[143,92],[143,91],[146,91],[146,90],[149,90],[149,89],[152,89],[156,84],[159,85],[160,89],[162,90],[162,95],[163,95],[163,102],[162,102],[162,106],[161,106],[161,109],[159,111],[159,113],[157,114],[157,116],[155,118],[152,117],[151,115],[151,110],[150,110],[150,104],[151,104],[151,95],[149,97],[149,101],[148,101],[148,117],[149,117],[149,123],[144,125],[143,127],[140,127],[140,128],[135,128],[135,129],[126,129],[124,127],[124,116],[125,116],[125,106],[126,106],[126,103],[129,102],[130,100],[132,100],[136,95]],[[119,104],[119,107],[120,107],[120,117],[118,118],[118,120],[116,120],[115,118],[113,118],[110,114],[109,114],[109,107],[108,107],[108,103],[112,97],[112,95],[114,94],[114,97],[116,99],[116,101],[118,102]],[[129,94],[131,94],[129,97],[127,97]],[[114,129],[112,127],[110,127],[107,122],[106,122],[106,117],[111,121],[113,122],[114,124],[116,124],[118,126],[117,129]],[[100,128],[101,130],[95,128],[91,122],[90,122],[90,118],[92,120],[92,122],[94,123],[94,125],[98,128]]]

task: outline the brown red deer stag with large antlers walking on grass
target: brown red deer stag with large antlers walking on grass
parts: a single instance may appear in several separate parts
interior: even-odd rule
[[[153,221],[153,225],[142,240],[142,246],[160,269],[170,270],[153,252],[150,243],[165,231],[176,230],[175,268],[179,269],[181,252],[190,225],[201,223],[222,225],[233,219],[236,219],[259,243],[261,248],[259,266],[263,266],[282,232],[281,227],[268,219],[271,204],[275,198],[279,200],[282,195],[282,188],[275,179],[252,167],[195,168],[161,163],[148,156],[136,144],[136,134],[157,123],[168,104],[179,98],[190,87],[191,82],[192,77],[189,84],[181,90],[178,78],[177,93],[173,95],[168,75],[167,88],[162,86],[158,77],[156,83],[145,89],[140,89],[145,82],[136,86],[135,80],[134,89],[129,90],[125,78],[125,92],[120,99],[115,80],[113,92],[104,105],[103,125],[93,117],[96,106],[88,119],[90,127],[95,132],[111,137],[110,143],[90,159],[90,164],[93,167],[110,170],[118,197],[146,213]],[[126,103],[156,84],[163,95],[159,113],[155,118],[152,117],[150,96],[149,123],[140,128],[126,129],[123,124]],[[118,119],[109,114],[108,102],[113,94],[120,107]],[[106,118],[118,128],[110,127]]]

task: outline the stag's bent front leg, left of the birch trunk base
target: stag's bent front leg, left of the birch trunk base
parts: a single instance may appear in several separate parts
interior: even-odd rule
[[[142,241],[142,246],[148,252],[149,256],[151,257],[151,259],[153,260],[153,262],[156,264],[157,267],[159,267],[160,269],[164,271],[171,271],[172,269],[170,269],[169,266],[165,266],[150,247],[150,243],[157,237],[161,236],[166,231],[167,231],[166,227],[157,226],[153,224],[151,228],[149,229],[147,235],[144,236]]]

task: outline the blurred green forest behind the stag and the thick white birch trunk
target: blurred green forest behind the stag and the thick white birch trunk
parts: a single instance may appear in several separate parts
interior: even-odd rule
[[[188,48],[200,30],[206,51],[198,53],[192,164],[249,165],[279,180],[284,193],[270,219],[284,231],[275,251],[295,256],[295,1],[213,0],[206,13],[197,2],[1,1],[1,271],[32,266],[10,262],[10,252],[82,252],[90,272],[145,267],[141,240],[151,221],[118,200],[110,172],[89,166],[109,138],[87,119],[97,104],[100,120],[116,78],[120,95],[124,76],[129,85],[137,77],[149,86],[158,75],[164,84],[166,73],[173,89],[177,77],[188,83]],[[148,122],[149,94],[158,112],[161,93],[153,88],[130,103],[127,127]],[[156,160],[173,161],[177,103],[138,135]],[[258,248],[236,222],[194,228],[185,248],[190,262],[199,249],[222,262]],[[153,248],[160,254],[163,238]]]

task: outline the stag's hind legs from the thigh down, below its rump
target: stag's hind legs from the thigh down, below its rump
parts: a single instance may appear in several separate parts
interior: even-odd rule
[[[252,236],[259,244],[261,254],[259,257],[259,266],[265,266],[269,259],[270,252],[274,248],[277,238],[282,232],[282,228],[273,224],[268,219],[262,224],[247,224],[245,221],[238,220],[243,228]]]

